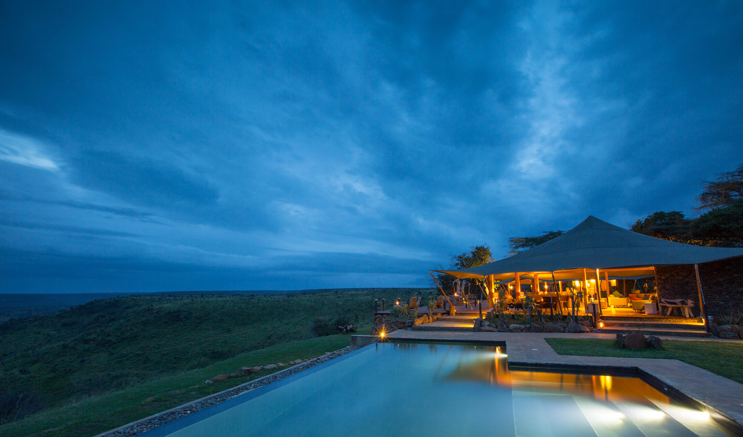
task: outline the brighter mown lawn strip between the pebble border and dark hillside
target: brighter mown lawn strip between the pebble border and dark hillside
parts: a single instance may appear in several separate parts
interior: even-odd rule
[[[358,334],[369,334],[370,330],[371,328],[361,329]],[[244,352],[201,369],[181,372],[178,375],[170,375],[123,390],[94,395],[74,404],[43,410],[19,421],[0,426],[0,436],[94,436],[273,372],[266,370],[214,384],[204,384],[204,381],[215,375],[232,373],[243,366],[254,367],[285,363],[297,358],[315,358],[349,344],[351,344],[350,335],[337,334]],[[153,397],[154,399],[151,399]],[[49,432],[43,433],[44,431]]]

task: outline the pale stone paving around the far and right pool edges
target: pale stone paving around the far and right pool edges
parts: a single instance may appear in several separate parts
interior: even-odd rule
[[[545,338],[616,338],[613,334],[560,334],[531,332],[438,332],[398,329],[389,340],[503,341],[508,361],[526,364],[637,367],[664,384],[706,404],[743,425],[743,384],[678,360],[558,355]],[[730,341],[705,338],[661,337],[684,341]],[[735,341],[734,341],[735,342]],[[742,343],[743,341],[737,341]],[[741,369],[743,372],[743,369]]]

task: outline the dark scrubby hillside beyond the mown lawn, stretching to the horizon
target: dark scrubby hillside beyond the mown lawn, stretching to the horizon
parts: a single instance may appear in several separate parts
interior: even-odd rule
[[[94,300],[67,311],[2,323],[0,387],[39,393],[50,407],[59,407],[208,367],[244,352],[311,338],[318,316],[332,321],[340,315],[369,326],[374,298],[391,301],[409,298],[410,293],[353,289]]]

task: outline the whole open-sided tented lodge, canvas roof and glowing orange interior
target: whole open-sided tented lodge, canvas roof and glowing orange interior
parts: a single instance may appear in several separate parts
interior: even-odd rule
[[[470,269],[439,289],[459,313],[481,308],[596,312],[602,317],[701,318],[743,311],[743,248],[648,237],[589,216],[525,252]],[[453,300],[452,300],[453,299]],[[478,301],[479,300],[479,301]],[[443,311],[444,309],[442,309]]]

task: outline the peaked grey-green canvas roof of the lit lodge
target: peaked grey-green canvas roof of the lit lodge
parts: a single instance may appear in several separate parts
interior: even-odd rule
[[[692,246],[648,237],[588,216],[559,237],[525,252],[482,266],[441,270],[456,277],[567,269],[630,269],[701,264],[743,256],[743,248]]]

